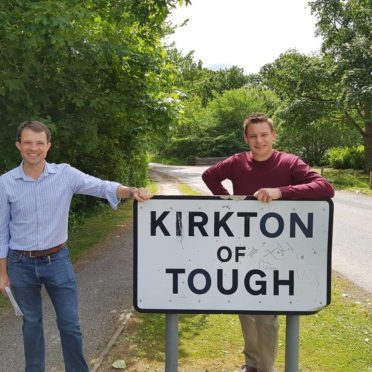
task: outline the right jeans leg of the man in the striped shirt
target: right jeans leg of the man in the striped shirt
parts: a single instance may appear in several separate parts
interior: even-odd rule
[[[88,371],[83,356],[83,339],[80,331],[75,273],[68,249],[46,258],[42,270],[45,288],[52,300],[61,335],[63,358],[67,372]]]

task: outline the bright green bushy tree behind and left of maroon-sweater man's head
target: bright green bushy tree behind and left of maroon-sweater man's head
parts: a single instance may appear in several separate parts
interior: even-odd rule
[[[272,91],[257,88],[227,90],[196,111],[193,126],[198,128],[187,136],[174,136],[163,148],[168,156],[187,159],[190,156],[229,156],[245,151],[243,119],[252,112],[272,115],[277,106]]]

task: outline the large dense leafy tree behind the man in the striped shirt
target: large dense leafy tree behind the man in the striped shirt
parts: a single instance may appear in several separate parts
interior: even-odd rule
[[[176,3],[2,1],[0,171],[18,163],[9,149],[18,123],[36,118],[54,132],[52,161],[143,183],[146,136],[166,131],[177,114],[161,43]]]

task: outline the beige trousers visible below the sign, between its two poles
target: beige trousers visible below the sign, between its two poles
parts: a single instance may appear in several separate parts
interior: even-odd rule
[[[273,372],[278,349],[277,315],[240,314],[244,337],[245,364],[258,372]]]

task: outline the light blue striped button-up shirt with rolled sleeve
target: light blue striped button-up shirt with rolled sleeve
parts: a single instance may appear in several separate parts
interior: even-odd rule
[[[7,256],[9,248],[43,250],[64,243],[72,196],[105,198],[116,208],[119,185],[68,164],[45,162],[37,180],[24,173],[23,163],[4,173],[0,176],[0,258]]]

